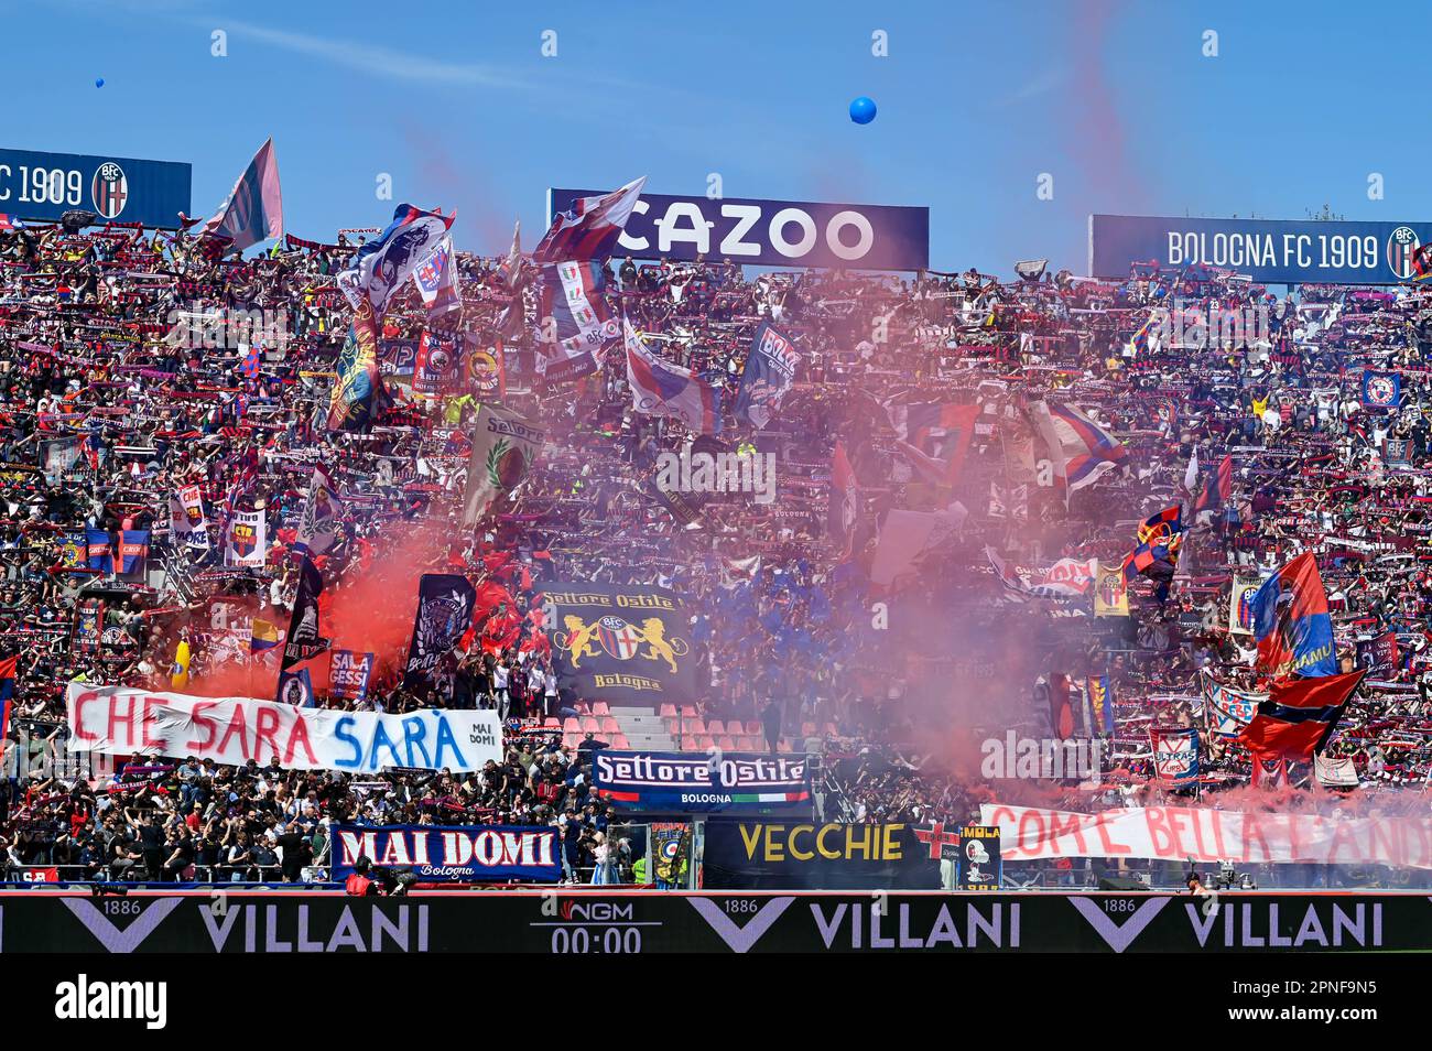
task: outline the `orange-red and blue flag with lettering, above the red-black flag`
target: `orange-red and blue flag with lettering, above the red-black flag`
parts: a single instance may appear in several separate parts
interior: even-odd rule
[[[1337,674],[1327,591],[1310,551],[1264,580],[1252,604],[1259,667],[1274,679]]]

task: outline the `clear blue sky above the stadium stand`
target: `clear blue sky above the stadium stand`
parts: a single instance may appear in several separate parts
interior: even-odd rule
[[[286,229],[458,209],[540,236],[547,186],[928,205],[931,261],[1084,272],[1090,212],[1423,219],[1403,72],[1432,6],[0,0],[16,149],[186,160],[212,212],[269,135]],[[543,57],[541,34],[557,33]],[[885,30],[889,56],[871,53]],[[211,54],[213,30],[228,57]],[[1203,33],[1219,34],[1204,57]],[[105,87],[96,89],[95,79]],[[879,116],[853,125],[869,95]],[[394,200],[378,200],[378,173]],[[1385,198],[1368,199],[1368,175]],[[1040,173],[1054,199],[1040,200]]]

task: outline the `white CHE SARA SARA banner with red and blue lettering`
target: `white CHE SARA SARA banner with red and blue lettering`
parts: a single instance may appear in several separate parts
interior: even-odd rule
[[[66,700],[70,752],[196,756],[235,766],[278,756],[292,770],[351,773],[478,770],[488,759],[503,760],[495,712],[338,712],[83,683],[70,683]]]

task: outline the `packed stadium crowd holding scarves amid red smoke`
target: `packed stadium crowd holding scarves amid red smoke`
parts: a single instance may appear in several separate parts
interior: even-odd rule
[[[296,882],[322,872],[338,820],[501,822],[561,828],[573,878],[632,879],[640,835],[590,789],[593,750],[621,742],[593,699],[558,689],[530,616],[547,580],[682,594],[702,683],[674,713],[682,746],[819,755],[829,819],[968,822],[979,802],[1021,792],[1083,809],[1247,785],[1247,753],[1217,733],[1194,783],[1160,782],[1148,727],[1209,726],[1209,683],[1256,689],[1233,589],[1313,551],[1339,660],[1372,672],[1327,749],[1350,760],[1350,780],[1319,788],[1305,772],[1307,788],[1349,806],[1421,796],[1425,809],[1432,298],[1418,286],[1279,298],[1199,268],[901,279],[611,259],[613,309],[722,391],[720,448],[776,464],[773,503],[710,494],[683,521],[653,478],[657,455],[695,435],[633,411],[620,367],[546,385],[531,269],[460,255],[460,332],[501,361],[497,397],[546,430],[516,497],[464,530],[463,435],[493,394],[414,389],[395,359],[371,428],[325,427],[349,324],[334,278],[362,236],[291,236],[239,258],[185,231],[0,232],[0,657],[17,657],[7,868]],[[405,289],[384,347],[420,339],[425,318]],[[752,430],[730,408],[762,322],[790,336],[802,367]],[[1365,372],[1396,377],[1395,397],[1369,395]],[[1117,470],[1060,484],[1030,422],[1044,399],[1117,435]],[[947,408],[916,427],[929,405]],[[832,500],[838,448],[848,475]],[[67,683],[222,692],[241,674],[263,696],[276,670],[249,653],[253,620],[288,620],[319,462],[347,508],[315,560],[329,591],[407,593],[444,568],[500,580],[517,601],[474,624],[431,684],[402,687],[401,653],[379,653],[364,700],[319,683],[319,703],[498,707],[507,760],[372,780],[276,760],[135,756],[102,776],[77,763]],[[193,553],[170,536],[170,498],[188,485],[216,537],[235,513],[263,513],[262,567],[226,567],[219,543]],[[1097,567],[1118,566],[1138,523],[1180,501],[1176,576],[1134,580],[1127,614],[1095,617]],[[110,536],[115,567],[93,568],[93,546],[74,540],[86,530]],[[116,573],[126,534],[143,530],[137,568]],[[1002,578],[987,550],[1007,560]],[[1117,715],[1100,792],[979,776],[981,737],[1050,736],[1051,690],[1093,679]]]

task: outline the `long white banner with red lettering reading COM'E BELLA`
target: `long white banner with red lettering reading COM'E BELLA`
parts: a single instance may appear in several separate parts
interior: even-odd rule
[[[1432,818],[1323,818],[1147,806],[1070,813],[984,803],[1004,861],[1158,858],[1237,863],[1316,862],[1432,869]]]

